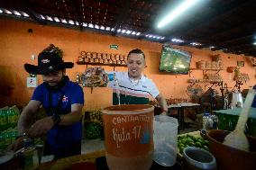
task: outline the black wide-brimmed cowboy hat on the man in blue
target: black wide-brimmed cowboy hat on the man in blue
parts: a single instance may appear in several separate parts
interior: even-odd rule
[[[25,70],[32,75],[47,75],[54,71],[74,67],[72,62],[64,62],[55,50],[42,51],[38,57],[38,66],[25,64]]]

